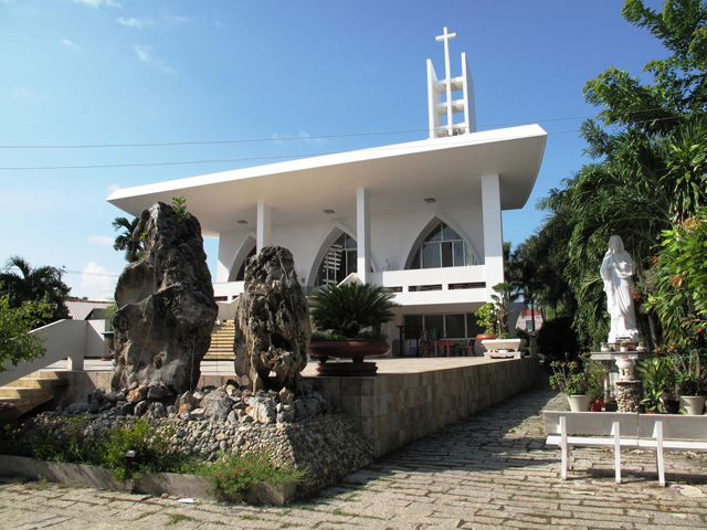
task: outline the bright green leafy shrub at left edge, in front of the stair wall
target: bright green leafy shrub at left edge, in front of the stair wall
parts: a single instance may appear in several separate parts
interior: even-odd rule
[[[51,315],[52,307],[49,304],[23,301],[19,307],[12,307],[9,294],[0,296],[0,372],[7,369],[4,361],[17,365],[44,354],[41,338],[30,335],[30,331]]]

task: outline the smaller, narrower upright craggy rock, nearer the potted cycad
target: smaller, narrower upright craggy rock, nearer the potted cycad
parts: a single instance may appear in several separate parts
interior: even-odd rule
[[[245,292],[235,314],[235,373],[253,391],[289,388],[299,393],[312,332],[307,299],[292,253],[266,246],[245,267]],[[274,378],[268,378],[274,372]]]

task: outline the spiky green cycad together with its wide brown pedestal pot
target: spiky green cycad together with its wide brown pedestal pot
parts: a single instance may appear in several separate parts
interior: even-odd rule
[[[319,360],[321,375],[372,375],[374,362],[366,357],[379,357],[390,350],[381,325],[393,319],[393,293],[372,284],[327,286],[309,298],[309,314],[315,326],[307,348]],[[329,358],[351,359],[354,362],[327,363]]]

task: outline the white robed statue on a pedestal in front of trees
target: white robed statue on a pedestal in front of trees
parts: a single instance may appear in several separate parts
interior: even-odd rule
[[[639,329],[633,308],[633,275],[634,263],[631,255],[624,251],[623,241],[618,235],[609,239],[609,250],[601,264],[601,277],[606,293],[606,308],[611,315],[611,330],[609,342],[637,342]]]

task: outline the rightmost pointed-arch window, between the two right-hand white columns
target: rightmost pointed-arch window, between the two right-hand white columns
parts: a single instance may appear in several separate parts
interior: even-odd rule
[[[410,268],[463,267],[474,265],[474,253],[460,234],[440,222],[420,244]]]

